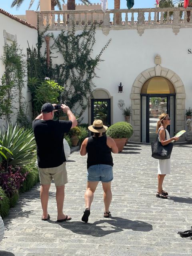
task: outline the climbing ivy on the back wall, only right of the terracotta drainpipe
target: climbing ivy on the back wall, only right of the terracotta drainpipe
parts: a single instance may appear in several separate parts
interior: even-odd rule
[[[88,96],[92,95],[95,87],[93,78],[98,77],[95,69],[101,60],[101,55],[111,39],[95,57],[92,56],[96,43],[94,25],[84,27],[81,34],[75,34],[75,26],[67,33],[63,30],[54,39],[52,49],[62,54],[64,62],[54,66],[53,78],[58,84],[64,85],[61,101],[65,102],[73,111],[82,116],[89,106]]]

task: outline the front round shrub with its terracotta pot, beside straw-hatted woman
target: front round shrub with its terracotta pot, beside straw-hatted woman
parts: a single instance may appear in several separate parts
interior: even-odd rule
[[[118,147],[119,152],[122,152],[126,138],[130,138],[131,136],[131,131],[128,128],[128,126],[124,124],[113,124],[107,129],[106,135],[113,138]]]

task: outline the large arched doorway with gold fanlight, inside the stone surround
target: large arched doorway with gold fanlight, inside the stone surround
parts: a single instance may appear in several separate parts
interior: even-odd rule
[[[168,113],[170,136],[175,132],[175,89],[167,78],[155,76],[148,79],[141,89],[141,142],[156,139],[156,124],[162,113]]]

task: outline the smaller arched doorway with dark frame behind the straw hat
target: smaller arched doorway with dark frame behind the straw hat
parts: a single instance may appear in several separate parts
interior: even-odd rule
[[[95,119],[100,119],[104,125],[110,126],[113,122],[113,97],[104,88],[97,88],[92,94],[93,98],[89,97],[89,124]]]

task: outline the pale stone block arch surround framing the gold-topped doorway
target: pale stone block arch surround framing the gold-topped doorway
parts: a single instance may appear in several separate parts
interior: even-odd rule
[[[185,128],[185,88],[180,77],[168,68],[163,68],[160,65],[155,66],[154,68],[149,68],[139,74],[134,81],[131,90],[131,106],[132,106],[132,126],[134,128],[134,134],[132,136],[133,141],[140,142],[141,138],[141,100],[140,92],[143,84],[150,78],[154,76],[162,76],[172,82],[175,92],[176,92],[176,132],[184,130]],[[181,141],[185,140],[184,137],[181,138]]]

